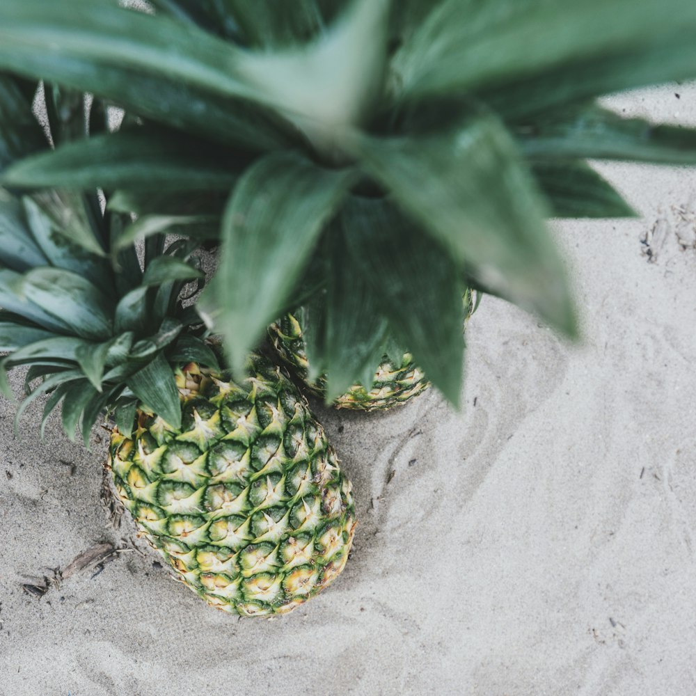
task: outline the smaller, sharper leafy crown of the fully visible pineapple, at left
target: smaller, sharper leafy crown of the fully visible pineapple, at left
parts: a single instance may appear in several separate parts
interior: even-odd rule
[[[31,113],[33,90],[0,77],[0,133],[15,150],[0,151],[0,166],[23,150],[47,148]],[[81,95],[79,95],[81,97]],[[49,134],[54,141],[84,137],[84,112],[73,93],[50,96]],[[57,107],[57,108],[56,108]],[[11,122],[3,116],[13,113]],[[82,123],[82,128],[79,125]],[[203,326],[184,307],[184,287],[203,283],[188,239],[167,242],[151,234],[139,249],[142,225],[130,216],[103,212],[94,193],[43,189],[33,195],[0,189],[0,387],[12,396],[7,372],[28,367],[22,412],[49,393],[42,432],[62,405],[63,428],[88,440],[104,410],[131,431],[136,406],[145,404],[179,427],[179,393],[170,363],[198,361],[216,367],[202,340]],[[189,286],[190,287],[190,286]]]

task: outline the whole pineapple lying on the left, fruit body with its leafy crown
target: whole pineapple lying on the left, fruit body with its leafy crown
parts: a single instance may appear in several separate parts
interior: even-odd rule
[[[47,147],[32,97],[0,75],[0,168]],[[46,98],[54,142],[84,139],[81,94]],[[12,397],[7,374],[26,368],[17,423],[47,395],[42,431],[60,407],[85,443],[111,413],[118,497],[177,578],[233,615],[287,613],[345,566],[351,484],[278,367],[259,354],[234,378],[221,367],[185,294],[204,283],[196,242],[157,232],[139,250],[139,227],[96,191],[0,189],[0,386]]]

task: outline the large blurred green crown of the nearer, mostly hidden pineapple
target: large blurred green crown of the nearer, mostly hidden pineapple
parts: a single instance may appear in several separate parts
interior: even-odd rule
[[[388,327],[456,403],[467,286],[576,335],[544,221],[635,214],[586,158],[696,164],[693,130],[595,101],[696,76],[693,0],[118,4],[3,0],[0,68],[139,117],[3,181],[218,241],[199,308],[237,370],[302,305],[332,391]]]

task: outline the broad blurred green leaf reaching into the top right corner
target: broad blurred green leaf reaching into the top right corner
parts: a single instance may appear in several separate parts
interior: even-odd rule
[[[445,0],[395,62],[411,98],[502,88],[553,70],[572,89],[577,65],[596,60],[615,72],[612,60],[667,47],[694,29],[691,0]]]

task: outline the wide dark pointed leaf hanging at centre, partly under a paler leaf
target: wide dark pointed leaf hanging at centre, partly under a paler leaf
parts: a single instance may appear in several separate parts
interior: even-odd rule
[[[391,331],[459,406],[464,358],[459,269],[384,200],[351,198],[341,217],[351,259],[379,297]]]

